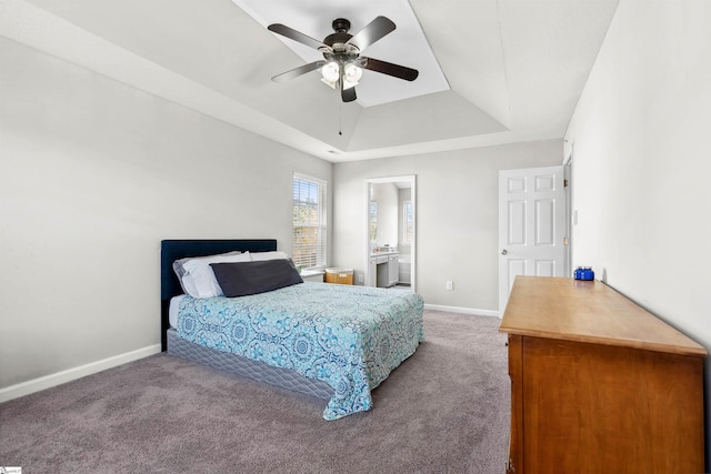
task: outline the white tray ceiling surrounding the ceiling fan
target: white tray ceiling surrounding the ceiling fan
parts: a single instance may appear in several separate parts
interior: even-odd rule
[[[291,0],[259,19],[236,3],[271,2],[0,0],[0,34],[338,162],[562,138],[618,0],[410,0],[410,13],[404,0]],[[359,101],[342,103],[316,72],[270,80],[308,61],[264,24],[322,39],[337,17],[354,33],[380,14],[398,29],[367,56],[424,83],[438,73],[419,62],[429,50],[434,92],[367,71]]]

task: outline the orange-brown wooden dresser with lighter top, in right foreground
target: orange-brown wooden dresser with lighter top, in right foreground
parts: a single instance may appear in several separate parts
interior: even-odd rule
[[[517,276],[508,472],[703,473],[707,351],[599,281]]]

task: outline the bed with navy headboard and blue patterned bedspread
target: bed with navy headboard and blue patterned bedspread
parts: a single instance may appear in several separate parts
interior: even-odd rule
[[[277,252],[277,241],[161,242],[163,350],[322,399],[328,421],[370,410],[371,391],[423,340],[421,296],[312,282],[239,297],[183,294],[173,262],[234,251],[249,252],[258,260]],[[222,270],[249,265],[228,263],[212,269],[223,278]]]

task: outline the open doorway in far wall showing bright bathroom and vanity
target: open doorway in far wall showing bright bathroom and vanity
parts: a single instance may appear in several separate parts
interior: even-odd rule
[[[365,180],[367,286],[415,291],[415,177]]]

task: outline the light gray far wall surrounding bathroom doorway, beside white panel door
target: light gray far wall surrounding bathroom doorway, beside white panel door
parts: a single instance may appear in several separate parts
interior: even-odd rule
[[[417,291],[427,304],[499,311],[499,170],[560,164],[562,140],[337,163],[333,264],[365,265],[367,179],[417,175]],[[454,290],[447,291],[445,282]]]

